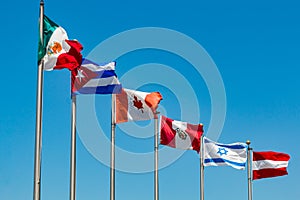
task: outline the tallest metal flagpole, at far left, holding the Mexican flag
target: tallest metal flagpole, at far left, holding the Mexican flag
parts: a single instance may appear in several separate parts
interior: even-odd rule
[[[40,1],[40,40],[43,44],[44,1]],[[36,127],[35,127],[35,158],[34,158],[34,189],[33,199],[40,200],[41,196],[41,151],[42,151],[42,107],[43,107],[43,68],[44,62],[38,64]]]

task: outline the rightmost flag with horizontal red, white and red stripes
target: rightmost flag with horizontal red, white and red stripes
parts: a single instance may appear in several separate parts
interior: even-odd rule
[[[287,175],[290,156],[272,151],[253,152],[253,180]]]

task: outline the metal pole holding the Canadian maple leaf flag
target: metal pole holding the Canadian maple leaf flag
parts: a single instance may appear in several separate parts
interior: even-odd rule
[[[115,94],[111,98],[110,200],[115,200]]]

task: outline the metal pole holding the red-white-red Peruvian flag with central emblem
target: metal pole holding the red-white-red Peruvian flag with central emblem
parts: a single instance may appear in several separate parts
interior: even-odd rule
[[[156,112],[156,115],[159,114]],[[158,189],[158,117],[154,119],[154,200],[159,199],[159,189]]]

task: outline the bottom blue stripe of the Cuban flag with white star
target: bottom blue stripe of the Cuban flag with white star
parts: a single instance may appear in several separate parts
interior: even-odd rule
[[[74,92],[74,95],[78,94],[119,94],[121,93],[122,85],[107,85],[98,87],[83,87]]]

